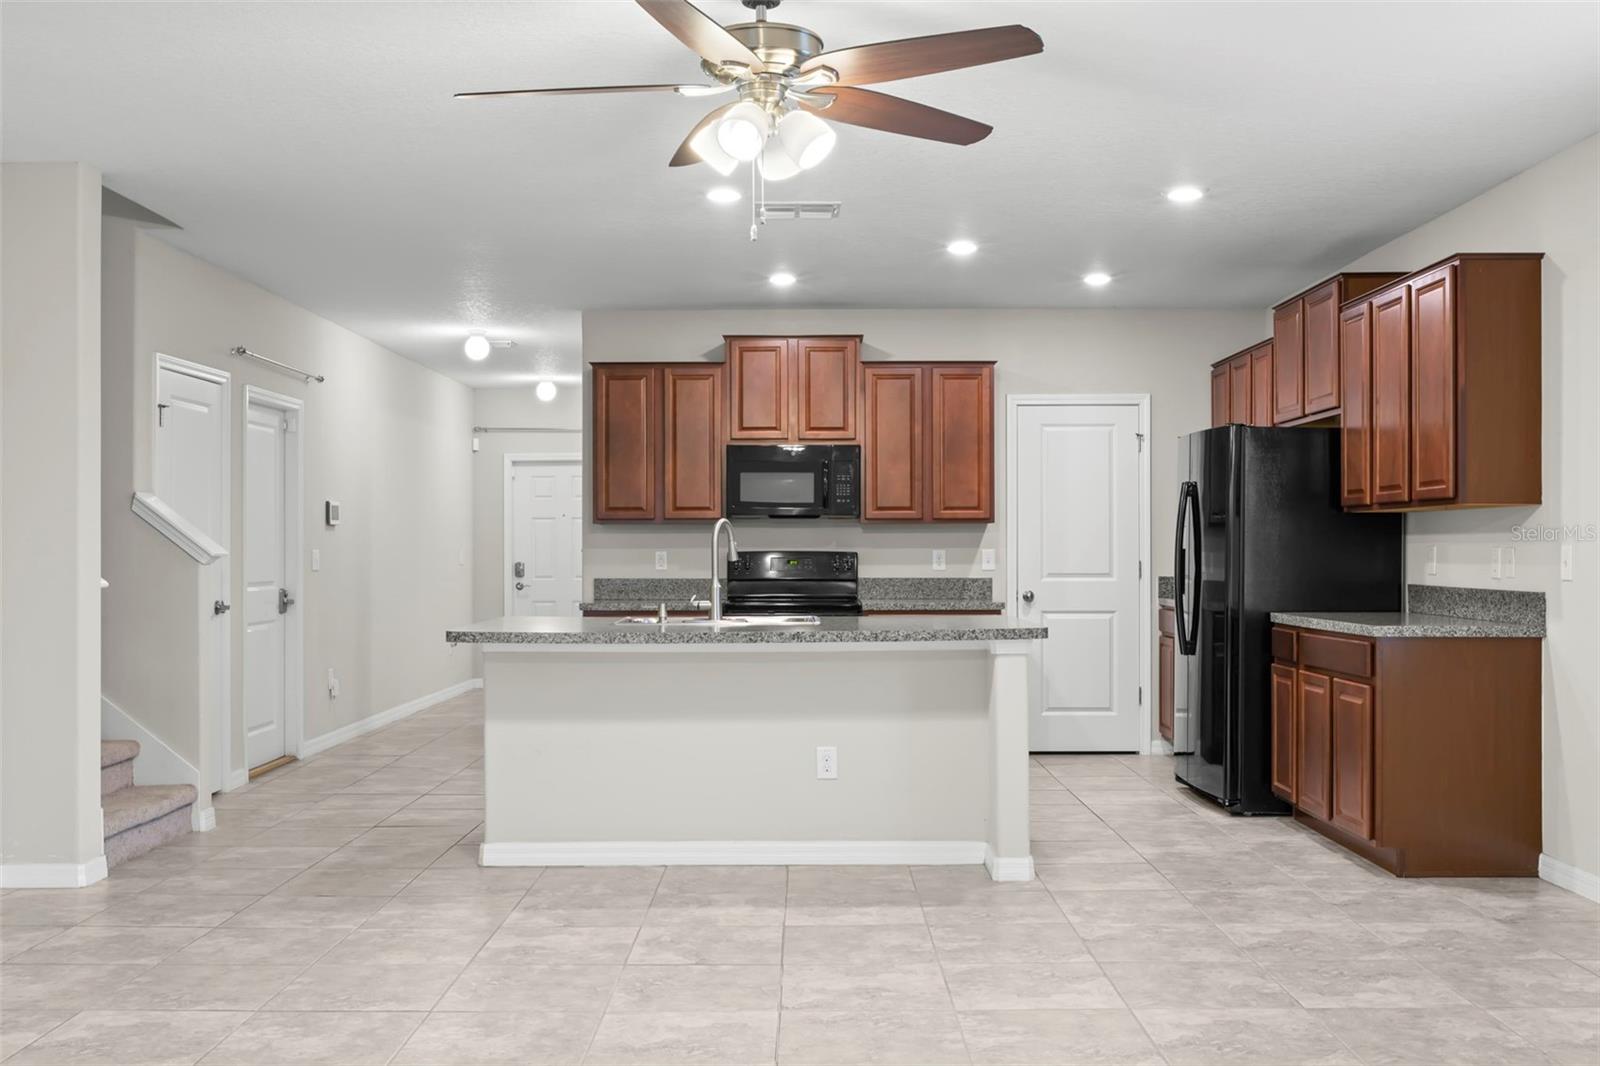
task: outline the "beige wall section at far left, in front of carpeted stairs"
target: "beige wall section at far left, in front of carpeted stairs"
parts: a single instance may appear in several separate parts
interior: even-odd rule
[[[75,884],[104,855],[99,173],[0,189],[0,884]]]

